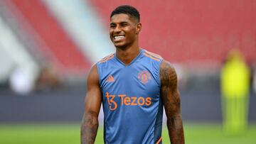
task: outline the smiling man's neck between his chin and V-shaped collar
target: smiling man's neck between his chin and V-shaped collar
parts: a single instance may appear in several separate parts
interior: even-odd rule
[[[139,52],[139,45],[132,45],[128,48],[116,48],[117,58],[124,62],[125,65],[129,65],[129,63],[139,55]]]

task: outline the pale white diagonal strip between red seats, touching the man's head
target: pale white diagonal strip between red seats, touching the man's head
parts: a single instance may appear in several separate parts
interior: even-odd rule
[[[62,23],[70,38],[79,45],[82,54],[95,63],[114,52],[108,32],[98,20],[97,14],[87,1],[83,0],[44,0],[44,4]]]

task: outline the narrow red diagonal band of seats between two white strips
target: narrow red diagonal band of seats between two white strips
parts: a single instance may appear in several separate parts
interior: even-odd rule
[[[16,11],[14,14],[18,22],[24,25],[23,28],[31,26],[30,30],[38,35],[31,35],[31,40],[39,41],[41,52],[46,54],[63,73],[85,71],[90,67],[90,60],[81,54],[78,46],[63,31],[60,23],[56,21],[42,1],[11,0],[6,1],[6,6]],[[23,23],[28,23],[28,25],[25,26]]]

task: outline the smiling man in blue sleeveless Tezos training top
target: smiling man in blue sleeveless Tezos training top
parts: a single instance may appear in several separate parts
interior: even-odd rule
[[[88,75],[81,143],[94,143],[101,103],[105,143],[161,143],[163,104],[171,143],[184,143],[176,72],[159,55],[139,48],[141,29],[134,7],[112,11],[110,39],[116,52]]]

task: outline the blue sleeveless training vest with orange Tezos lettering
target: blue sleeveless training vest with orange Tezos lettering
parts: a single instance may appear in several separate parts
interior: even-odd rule
[[[115,54],[97,62],[106,144],[161,143],[163,58],[141,49],[129,65]]]

